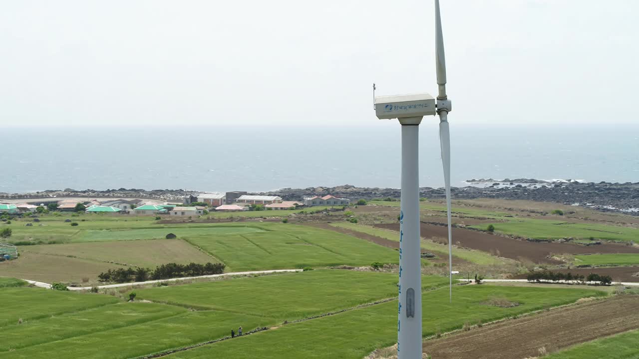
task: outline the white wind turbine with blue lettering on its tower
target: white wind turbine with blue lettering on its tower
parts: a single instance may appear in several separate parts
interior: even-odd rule
[[[419,234],[419,124],[424,116],[440,116],[440,142],[446,189],[449,245],[449,295],[452,301],[452,235],[450,229],[450,134],[439,0],[435,0],[437,99],[427,93],[376,96],[379,119],[398,119],[401,125],[401,212],[399,215],[399,307],[397,358],[422,358],[422,284]]]

